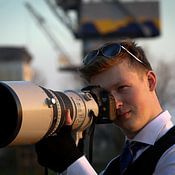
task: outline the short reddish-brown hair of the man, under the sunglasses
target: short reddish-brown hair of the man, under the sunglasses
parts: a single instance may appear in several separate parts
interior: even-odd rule
[[[127,53],[127,51],[125,51],[124,49],[121,49],[121,52],[118,55],[110,59],[106,59],[104,56],[100,55],[91,64],[87,64],[87,65],[83,64],[79,69],[83,78],[89,81],[92,76],[100,72],[103,72],[109,69],[110,67],[121,63],[124,60],[127,60],[128,65],[131,68],[135,69],[136,71],[152,70],[152,67],[148,59],[146,58],[146,55],[143,49],[140,46],[137,46],[137,44],[134,41],[127,39],[127,40],[120,40],[115,43],[118,43],[121,46],[124,46],[128,51],[130,51],[139,60],[141,60],[143,64],[135,60],[135,58],[133,58],[133,56]]]

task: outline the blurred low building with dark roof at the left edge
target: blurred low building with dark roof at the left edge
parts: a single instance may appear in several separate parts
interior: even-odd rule
[[[0,80],[31,80],[31,60],[24,47],[0,47]]]

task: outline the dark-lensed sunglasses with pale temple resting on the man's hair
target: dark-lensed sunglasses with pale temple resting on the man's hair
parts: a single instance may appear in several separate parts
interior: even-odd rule
[[[137,58],[128,49],[126,49],[124,46],[118,43],[106,44],[97,50],[92,50],[85,56],[85,58],[83,59],[83,63],[84,65],[89,65],[93,63],[97,59],[98,56],[104,56],[105,58],[108,58],[108,59],[113,58],[119,55],[122,49],[125,50],[129,55],[131,55],[136,61],[145,65],[145,63],[142,60]]]

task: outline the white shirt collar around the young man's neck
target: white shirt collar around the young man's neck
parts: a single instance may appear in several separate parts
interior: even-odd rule
[[[149,122],[133,139],[132,141],[143,142],[149,145],[154,143],[163,136],[171,127],[171,115],[168,111],[162,112],[154,120]]]

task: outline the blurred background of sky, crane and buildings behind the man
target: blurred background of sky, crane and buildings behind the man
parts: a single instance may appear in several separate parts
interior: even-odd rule
[[[153,63],[159,98],[175,116],[174,7],[174,0],[0,0],[0,80],[79,90],[85,84],[77,68],[89,50],[132,38]],[[124,138],[112,124],[96,128],[93,166],[99,172]],[[12,173],[44,174],[32,145],[0,149],[0,174]]]

